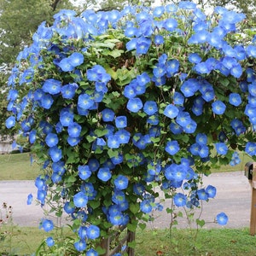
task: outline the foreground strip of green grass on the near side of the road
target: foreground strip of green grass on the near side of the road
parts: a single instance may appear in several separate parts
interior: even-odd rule
[[[0,241],[0,253],[4,252],[3,249],[12,249],[17,255],[31,255],[46,237],[54,235],[27,227],[15,228],[14,234],[12,247]],[[199,230],[196,240],[195,234],[191,235],[189,230],[172,230],[172,238],[169,230],[138,230],[136,241],[136,256],[256,255],[256,237],[250,236],[248,229],[203,229]]]

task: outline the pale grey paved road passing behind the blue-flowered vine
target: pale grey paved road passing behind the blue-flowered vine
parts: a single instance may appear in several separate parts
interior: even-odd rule
[[[202,218],[209,224],[205,228],[218,228],[218,224],[212,224],[218,212],[225,212],[229,216],[227,228],[248,227],[251,209],[251,187],[244,177],[244,172],[214,173],[204,178],[204,184],[212,184],[217,188],[217,196],[203,205]],[[13,219],[15,224],[21,226],[38,226],[39,220],[44,218],[44,212],[35,203],[26,205],[27,195],[37,195],[37,189],[33,181],[1,181],[0,182],[0,204],[3,202],[13,207]],[[164,203],[168,207],[170,201]],[[2,208],[0,208],[2,209]],[[200,212],[196,212],[198,216]],[[170,217],[163,212],[155,212],[157,217],[153,224],[155,228],[165,228],[170,224]],[[179,219],[178,227],[186,227],[187,222]]]

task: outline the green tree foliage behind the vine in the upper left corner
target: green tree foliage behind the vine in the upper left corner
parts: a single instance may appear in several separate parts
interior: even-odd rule
[[[15,61],[42,21],[50,23],[55,12],[70,7],[66,0],[0,0],[0,65]]]

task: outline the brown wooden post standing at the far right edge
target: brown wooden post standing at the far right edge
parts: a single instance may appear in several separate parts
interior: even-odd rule
[[[253,162],[253,178],[250,183],[252,186],[250,234],[254,236],[256,232],[256,162]]]

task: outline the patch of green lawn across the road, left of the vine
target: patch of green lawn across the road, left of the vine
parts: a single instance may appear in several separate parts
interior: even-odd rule
[[[31,165],[28,153],[0,154],[0,180],[33,180],[39,173],[40,167]]]

